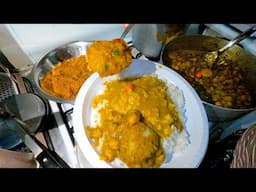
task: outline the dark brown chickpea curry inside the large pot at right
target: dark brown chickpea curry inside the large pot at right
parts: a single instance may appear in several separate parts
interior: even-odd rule
[[[177,50],[168,53],[168,65],[195,88],[200,98],[217,106],[247,109],[254,107],[244,71],[237,63],[221,57],[212,69],[206,51]]]

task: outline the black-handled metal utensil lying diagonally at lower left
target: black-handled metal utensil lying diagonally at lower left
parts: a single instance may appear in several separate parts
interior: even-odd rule
[[[69,168],[69,165],[55,151],[45,147],[34,135],[28,131],[28,124],[16,117],[8,108],[0,107],[0,117],[12,118],[20,125],[19,134],[22,140],[33,152],[35,159],[43,168]]]

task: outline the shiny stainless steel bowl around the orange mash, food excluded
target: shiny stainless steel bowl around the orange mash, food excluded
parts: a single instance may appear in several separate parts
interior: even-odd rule
[[[74,100],[56,97],[44,91],[40,85],[40,80],[45,76],[47,72],[51,71],[57,63],[72,57],[85,54],[88,45],[90,45],[91,43],[92,42],[86,41],[70,42],[49,51],[46,55],[39,59],[39,61],[33,67],[32,75],[36,89],[43,97],[49,100],[56,101],[58,103],[74,104]]]

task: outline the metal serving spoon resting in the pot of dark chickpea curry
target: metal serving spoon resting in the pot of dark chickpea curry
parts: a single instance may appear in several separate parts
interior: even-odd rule
[[[256,25],[253,25],[245,32],[241,33],[240,35],[236,36],[234,39],[230,40],[229,43],[226,44],[224,47],[218,49],[217,51],[211,51],[207,53],[205,55],[205,60],[207,61],[208,65],[211,68],[215,68],[221,54],[223,54],[227,49],[231,48],[233,45],[249,37],[255,31],[256,31]]]

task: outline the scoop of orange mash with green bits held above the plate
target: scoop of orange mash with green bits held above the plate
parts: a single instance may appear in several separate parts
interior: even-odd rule
[[[119,73],[132,63],[131,50],[123,39],[93,42],[87,50],[87,60],[91,71],[101,77]]]

